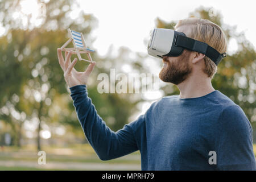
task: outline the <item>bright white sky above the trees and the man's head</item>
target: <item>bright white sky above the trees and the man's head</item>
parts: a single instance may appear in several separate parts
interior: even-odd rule
[[[213,12],[220,12],[223,22],[237,26],[237,31],[244,31],[247,39],[256,45],[256,24],[254,19],[255,1],[84,1],[79,0],[85,13],[93,14],[98,19],[98,27],[92,32],[96,38],[93,47],[104,56],[110,45],[114,49],[125,46],[134,52],[147,53],[144,40],[155,27],[155,20],[171,22],[188,18],[189,13],[200,6],[209,7]],[[230,53],[237,48],[236,42],[229,45]]]

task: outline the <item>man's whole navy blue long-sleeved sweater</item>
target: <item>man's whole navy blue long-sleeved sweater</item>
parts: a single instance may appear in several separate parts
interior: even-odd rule
[[[86,85],[69,89],[85,136],[101,160],[139,150],[142,170],[256,168],[250,122],[218,90],[197,98],[163,97],[114,132],[97,114]]]

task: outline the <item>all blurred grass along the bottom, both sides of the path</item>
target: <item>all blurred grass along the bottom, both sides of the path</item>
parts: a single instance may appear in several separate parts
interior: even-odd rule
[[[256,144],[253,145],[254,155],[256,156]],[[40,168],[40,167],[24,167],[24,166],[1,166],[2,170],[77,170],[72,168],[71,163],[77,164],[137,164],[140,166],[141,157],[139,151],[133,152],[122,158],[102,161],[98,159],[98,156],[94,152],[93,148],[89,144],[73,144],[72,146],[61,147],[61,146],[43,146],[42,150],[46,151],[47,163],[63,163],[65,166],[71,166],[70,168]],[[23,146],[17,147],[5,147],[5,151],[0,152],[0,162],[2,164],[8,162],[32,162],[37,163],[39,156],[37,155],[35,146]],[[110,168],[106,168],[111,170]]]

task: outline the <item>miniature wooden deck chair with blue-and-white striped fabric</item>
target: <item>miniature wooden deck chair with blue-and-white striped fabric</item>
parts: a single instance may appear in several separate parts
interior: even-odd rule
[[[83,60],[83,61],[88,61],[89,63],[92,63],[92,57],[90,56],[90,52],[95,52],[95,51],[88,49],[86,47],[85,39],[82,33],[70,30],[70,28],[68,28],[68,34],[70,38],[68,39],[67,42],[65,42],[65,44],[63,44],[63,46],[60,49],[63,51],[72,51],[73,53],[77,54],[80,61]],[[68,44],[71,42],[73,43],[74,47],[66,48]],[[86,53],[89,60],[82,59],[80,55],[81,53]]]

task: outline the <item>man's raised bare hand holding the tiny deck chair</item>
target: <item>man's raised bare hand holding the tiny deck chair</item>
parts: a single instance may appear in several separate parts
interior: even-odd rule
[[[74,68],[77,59],[75,58],[71,63],[71,51],[65,51],[65,61],[60,48],[57,49],[57,54],[60,67],[64,71],[64,78],[68,86],[72,87],[76,85],[86,85],[90,73],[92,72],[96,62],[93,61],[92,63],[90,63],[85,72],[77,72]]]

